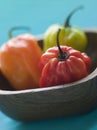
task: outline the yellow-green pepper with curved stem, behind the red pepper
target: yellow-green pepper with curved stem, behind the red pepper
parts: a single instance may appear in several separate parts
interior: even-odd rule
[[[69,23],[73,13],[81,8],[82,6],[74,9],[67,17],[65,24],[54,24],[48,27],[44,35],[44,52],[56,45],[56,37],[59,29],[61,29],[59,37],[60,45],[71,46],[81,52],[85,50],[88,43],[85,32]]]

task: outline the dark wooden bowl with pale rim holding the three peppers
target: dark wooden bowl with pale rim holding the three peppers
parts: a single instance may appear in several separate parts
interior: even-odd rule
[[[92,69],[87,77],[65,85],[15,91],[0,73],[0,110],[7,116],[29,121],[87,113],[97,108],[97,31],[85,30]],[[43,37],[38,37],[42,45]]]

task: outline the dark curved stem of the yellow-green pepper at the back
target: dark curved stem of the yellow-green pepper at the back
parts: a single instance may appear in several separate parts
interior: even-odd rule
[[[69,15],[68,17],[66,18],[66,22],[64,24],[64,27],[70,27],[70,19],[71,19],[71,16],[77,12],[79,9],[83,9],[83,6],[79,6],[77,8],[75,8]]]

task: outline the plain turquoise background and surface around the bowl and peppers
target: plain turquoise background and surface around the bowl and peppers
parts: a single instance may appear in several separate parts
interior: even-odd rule
[[[97,0],[2,0],[0,2],[0,45],[8,40],[13,26],[29,26],[34,35],[43,34],[54,23],[64,23],[69,12],[83,5],[71,18],[80,28],[97,27]],[[97,130],[97,110],[77,117],[18,122],[0,112],[0,130]]]

